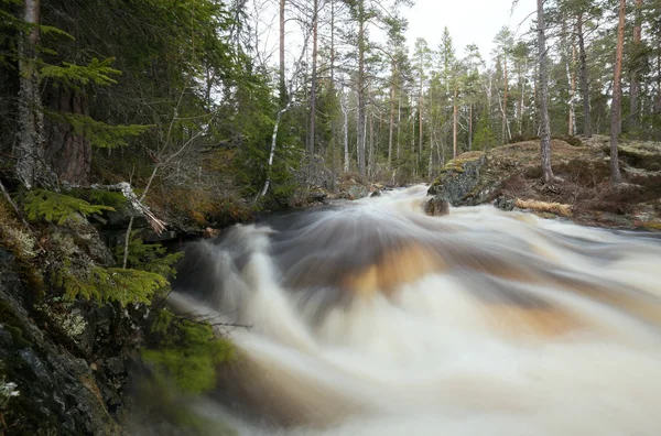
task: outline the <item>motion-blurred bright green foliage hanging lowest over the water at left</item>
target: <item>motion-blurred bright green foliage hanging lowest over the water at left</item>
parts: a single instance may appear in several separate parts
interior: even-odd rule
[[[156,347],[144,349],[142,359],[188,394],[214,389],[216,367],[235,357],[231,342],[217,338],[208,323],[192,321],[167,309],[155,315],[152,334],[159,339]]]

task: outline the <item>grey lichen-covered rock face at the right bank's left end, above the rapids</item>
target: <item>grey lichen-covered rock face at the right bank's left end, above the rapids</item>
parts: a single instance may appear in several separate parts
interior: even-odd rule
[[[438,178],[427,190],[458,206],[479,183],[479,171],[486,162],[484,152],[467,152],[445,164]]]

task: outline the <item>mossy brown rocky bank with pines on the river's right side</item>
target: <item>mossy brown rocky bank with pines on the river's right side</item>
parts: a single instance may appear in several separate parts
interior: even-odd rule
[[[542,217],[614,229],[661,230],[661,144],[622,141],[624,183],[609,182],[607,137],[552,141],[552,165],[561,179],[540,183],[539,141],[468,152],[448,162],[430,187],[453,206],[495,204]]]

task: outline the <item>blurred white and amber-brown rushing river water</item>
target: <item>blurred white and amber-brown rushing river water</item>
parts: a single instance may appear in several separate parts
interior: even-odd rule
[[[658,435],[661,240],[425,186],[237,226],[174,305],[250,325],[199,405],[246,435]]]

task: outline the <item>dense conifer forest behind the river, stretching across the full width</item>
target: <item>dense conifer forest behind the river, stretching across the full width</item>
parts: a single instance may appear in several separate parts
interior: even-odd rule
[[[659,2],[622,2],[621,35],[618,2],[545,2],[544,84],[537,17],[483,56],[447,29],[407,41],[405,1],[262,3],[3,0],[7,183],[149,185],[154,207],[186,198],[213,221],[343,174],[430,181],[462,152],[539,137],[543,87],[554,137],[609,135],[618,106],[618,134],[659,140]],[[275,61],[261,39],[277,12]]]

